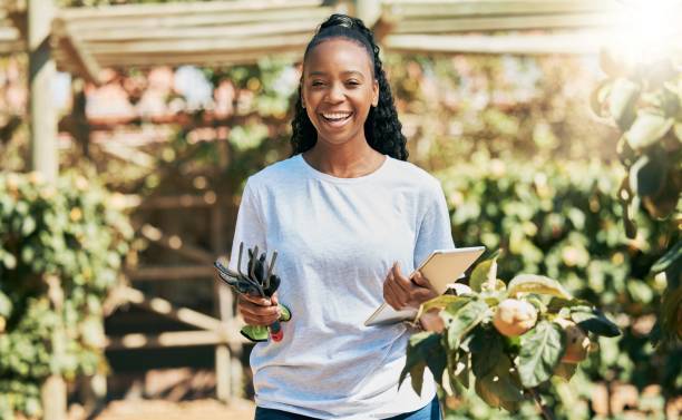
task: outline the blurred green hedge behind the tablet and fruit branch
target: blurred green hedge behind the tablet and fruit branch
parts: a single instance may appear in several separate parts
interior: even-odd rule
[[[585,406],[592,383],[614,381],[639,389],[661,384],[665,395],[675,395],[682,387],[682,354],[655,353],[649,340],[651,324],[643,326],[655,314],[665,287],[649,267],[663,254],[671,233],[665,223],[640,215],[637,236],[625,236],[615,194],[622,176],[617,166],[596,160],[503,162],[480,152],[470,163],[452,166],[438,176],[459,246],[483,242],[489,250],[501,248],[500,279],[517,273],[557,279],[576,299],[601,307],[623,331],[618,339],[601,340],[602,351],[591,354],[578,369],[574,381],[585,390],[581,398],[575,391],[554,392],[540,387],[543,398],[552,404]],[[475,276],[470,282],[480,283]],[[460,408],[462,412],[483,410],[465,407]],[[587,417],[588,408],[583,412],[585,416],[577,418]]]

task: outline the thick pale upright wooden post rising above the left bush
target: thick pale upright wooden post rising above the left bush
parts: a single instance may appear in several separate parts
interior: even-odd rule
[[[50,48],[53,16],[52,0],[28,1],[31,167],[47,179],[55,179],[59,170],[57,109],[52,96],[57,69]]]

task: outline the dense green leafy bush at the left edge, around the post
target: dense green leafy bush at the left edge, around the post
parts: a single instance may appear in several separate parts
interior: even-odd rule
[[[0,418],[39,416],[52,373],[106,369],[103,303],[131,237],[117,199],[79,175],[0,173]]]

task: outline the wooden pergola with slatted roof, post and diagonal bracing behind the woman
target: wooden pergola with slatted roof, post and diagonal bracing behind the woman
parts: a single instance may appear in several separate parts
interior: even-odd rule
[[[32,167],[53,178],[58,121],[51,82],[57,70],[99,84],[103,68],[233,66],[271,55],[295,61],[316,26],[337,11],[371,25],[389,51],[596,53],[595,40],[617,23],[614,11],[621,6],[616,0],[235,0],[58,9],[51,0],[6,0],[0,8],[0,53],[29,55]],[[146,223],[139,235],[195,264],[173,270],[140,267],[129,277],[213,277],[211,263],[226,251],[226,238],[220,234],[225,219],[215,194],[157,197],[144,205],[211,208],[216,235],[211,238],[212,248],[204,250]],[[228,400],[241,384],[243,341],[234,323],[232,293],[216,282],[216,295],[218,315],[210,316],[128,287],[124,300],[198,331],[109,338],[108,348],[215,345],[217,394]],[[52,387],[46,392],[57,395],[53,404],[62,403],[64,385]]]

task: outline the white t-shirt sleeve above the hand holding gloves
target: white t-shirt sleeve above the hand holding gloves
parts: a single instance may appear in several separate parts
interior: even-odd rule
[[[232,253],[230,256],[230,270],[237,270],[240,257],[240,244],[244,243],[244,254],[242,255],[242,270],[246,267],[249,254],[246,250],[259,247],[259,253],[266,252],[265,248],[265,225],[261,217],[261,205],[257,199],[256,191],[251,180],[246,182],[244,193],[242,194],[242,203],[237,213],[237,221],[234,228],[234,238],[232,241]]]

